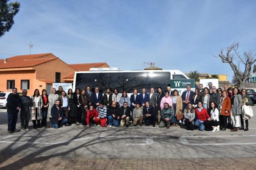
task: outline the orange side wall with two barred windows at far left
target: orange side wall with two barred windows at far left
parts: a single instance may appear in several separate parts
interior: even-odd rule
[[[30,80],[30,89],[28,90],[28,95],[32,95],[34,93],[34,88],[36,85],[34,83],[35,78],[35,70],[0,71],[0,91],[11,92],[12,90],[6,89],[7,80],[15,80],[15,87],[18,89],[18,92],[22,92],[22,89],[20,89],[20,81]]]

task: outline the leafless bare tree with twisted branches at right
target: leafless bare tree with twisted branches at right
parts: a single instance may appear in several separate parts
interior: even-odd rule
[[[256,62],[254,51],[244,51],[243,55],[238,52],[239,43],[232,43],[225,49],[220,49],[218,56],[222,63],[230,64],[234,71],[234,76],[238,80],[238,86],[244,88],[244,82],[252,73],[252,65]],[[242,65],[242,66],[241,66]]]

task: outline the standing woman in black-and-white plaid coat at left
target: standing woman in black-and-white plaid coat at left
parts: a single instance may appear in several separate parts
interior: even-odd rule
[[[31,96],[32,107],[31,107],[31,120],[33,122],[34,129],[41,128],[41,119],[42,119],[42,96],[38,89],[34,91],[33,96]]]

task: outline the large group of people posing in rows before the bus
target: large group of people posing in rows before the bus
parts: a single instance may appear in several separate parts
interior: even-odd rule
[[[178,90],[166,90],[158,87],[146,93],[146,88],[138,94],[134,89],[130,98],[126,91],[122,94],[118,89],[106,89],[102,94],[98,87],[91,91],[91,87],[85,89],[76,88],[75,92],[69,89],[67,92],[60,86],[58,90],[53,88],[51,94],[38,89],[34,90],[31,98],[27,96],[27,90],[22,90],[23,96],[17,94],[14,88],[8,96],[8,132],[19,131],[16,129],[18,111],[22,131],[28,130],[28,122],[31,118],[34,129],[42,127],[59,128],[76,125],[115,127],[142,126],[143,123],[153,127],[185,126],[187,130],[199,129],[200,131],[248,131],[248,119],[252,116],[250,97],[246,89],[228,88],[216,89],[209,83],[209,88],[191,90],[190,84],[180,96]],[[180,117],[182,115],[182,117]],[[244,121],[246,127],[244,129]]]

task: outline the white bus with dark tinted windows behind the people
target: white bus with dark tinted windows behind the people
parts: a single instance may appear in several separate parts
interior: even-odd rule
[[[118,89],[120,93],[126,90],[128,94],[132,94],[134,88],[141,92],[142,88],[146,88],[150,92],[150,88],[162,87],[166,90],[170,86],[171,79],[189,79],[180,70],[121,70],[120,68],[91,68],[90,71],[77,71],[74,75],[73,92],[76,88],[84,88],[91,86],[99,87],[101,92],[106,92],[107,88],[111,91]],[[129,95],[130,96],[130,95]]]

